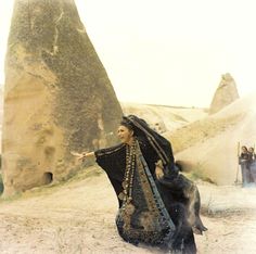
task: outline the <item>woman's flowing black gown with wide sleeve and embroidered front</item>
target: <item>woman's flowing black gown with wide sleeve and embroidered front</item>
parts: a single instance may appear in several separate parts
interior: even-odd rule
[[[118,199],[118,195],[126,188],[129,145],[118,144],[95,151],[97,163],[105,170],[116,192],[119,202],[116,225],[124,240],[180,253],[196,253],[192,227],[188,221],[188,199],[181,190],[188,181],[177,175],[171,145],[166,139],[164,141],[164,148],[163,142],[157,148],[148,137],[136,137],[135,168],[126,185],[130,198],[125,200]],[[164,164],[163,180],[157,180],[155,176],[155,164],[159,160]]]

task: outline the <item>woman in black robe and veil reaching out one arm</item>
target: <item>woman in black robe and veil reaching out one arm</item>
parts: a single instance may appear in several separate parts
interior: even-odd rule
[[[117,135],[120,144],[79,158],[94,156],[105,170],[118,198],[120,237],[170,253],[196,253],[193,229],[207,230],[200,218],[200,193],[179,174],[170,142],[135,115],[123,117]]]

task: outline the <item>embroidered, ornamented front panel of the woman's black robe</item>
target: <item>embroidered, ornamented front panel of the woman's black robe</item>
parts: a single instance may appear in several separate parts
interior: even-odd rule
[[[135,206],[132,202],[135,170],[148,207],[144,211],[140,211],[140,204]],[[131,145],[126,145],[126,172],[123,188],[123,192],[118,195],[123,200],[123,205],[116,221],[124,237],[131,242],[142,241],[151,244],[171,245],[175,225],[158,193],[137,139]],[[139,220],[136,219],[135,214],[139,216]],[[133,226],[135,223],[137,223],[137,227]]]

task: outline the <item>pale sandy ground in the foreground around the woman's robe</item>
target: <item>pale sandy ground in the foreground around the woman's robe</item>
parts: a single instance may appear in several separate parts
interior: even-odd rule
[[[64,183],[0,202],[0,253],[161,253],[124,242],[115,227],[117,201],[93,167]],[[200,254],[256,253],[256,188],[199,183],[204,236]]]

